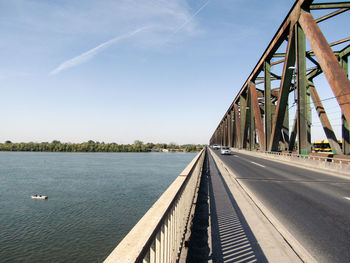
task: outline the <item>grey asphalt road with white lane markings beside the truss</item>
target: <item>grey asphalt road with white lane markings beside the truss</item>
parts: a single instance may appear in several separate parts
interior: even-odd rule
[[[350,178],[215,152],[318,262],[350,262]]]

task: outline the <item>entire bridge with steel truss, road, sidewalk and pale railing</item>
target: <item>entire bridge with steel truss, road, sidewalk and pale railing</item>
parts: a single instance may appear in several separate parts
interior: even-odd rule
[[[319,27],[349,9],[294,3],[210,138],[232,154],[203,149],[105,262],[350,262],[350,38],[328,43]],[[332,154],[312,152],[312,107]]]

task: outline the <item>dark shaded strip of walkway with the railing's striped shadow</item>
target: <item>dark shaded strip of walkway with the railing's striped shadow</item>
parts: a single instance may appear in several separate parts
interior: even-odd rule
[[[207,155],[187,262],[267,262],[212,156]]]

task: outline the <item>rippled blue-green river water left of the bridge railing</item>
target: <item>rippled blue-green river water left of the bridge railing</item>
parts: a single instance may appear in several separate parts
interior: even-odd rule
[[[0,262],[102,262],[194,156],[0,152]]]

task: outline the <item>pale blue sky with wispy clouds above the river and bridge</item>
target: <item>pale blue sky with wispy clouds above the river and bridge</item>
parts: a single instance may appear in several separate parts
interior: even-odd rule
[[[0,0],[0,142],[206,144],[293,3]]]

